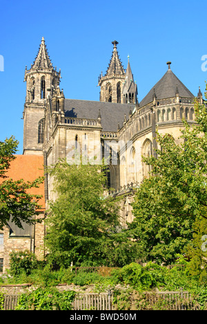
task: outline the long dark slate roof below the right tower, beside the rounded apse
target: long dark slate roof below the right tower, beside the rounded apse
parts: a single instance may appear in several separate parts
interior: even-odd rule
[[[121,127],[124,115],[128,119],[130,110],[135,108],[135,105],[129,104],[73,99],[65,99],[64,104],[66,117],[97,120],[100,109],[103,132],[117,132],[118,123]]]

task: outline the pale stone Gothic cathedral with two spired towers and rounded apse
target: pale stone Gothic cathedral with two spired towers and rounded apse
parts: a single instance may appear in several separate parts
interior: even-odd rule
[[[37,57],[30,69],[26,66],[24,75],[23,159],[37,156],[41,159],[39,168],[55,165],[61,158],[69,163],[74,152],[85,156],[88,163],[101,164],[104,159],[106,195],[122,197],[120,219],[125,225],[132,222],[133,192],[150,171],[150,167],[142,162],[142,156],[156,154],[156,129],[160,134],[171,134],[178,143],[182,118],[189,124],[195,123],[195,96],[172,72],[171,62],[167,62],[164,76],[139,101],[129,57],[127,69],[124,69],[118,44],[112,42],[108,69],[104,75],[99,75],[99,101],[72,100],[65,98],[63,89],[60,89],[61,71],[52,65],[45,39],[41,39]],[[203,102],[200,89],[197,98]],[[43,195],[46,206],[47,201],[55,199],[52,179],[48,175]],[[11,224],[8,226],[7,238],[12,228]],[[15,231],[18,232],[13,226],[12,235],[18,237],[14,235]],[[36,242],[32,243],[32,251],[37,253],[44,231],[39,228],[31,234],[27,228],[27,232],[27,237]],[[38,233],[39,238],[35,237]],[[1,235],[0,271],[3,260]],[[24,235],[21,233],[21,237]],[[6,246],[3,249],[6,251]]]

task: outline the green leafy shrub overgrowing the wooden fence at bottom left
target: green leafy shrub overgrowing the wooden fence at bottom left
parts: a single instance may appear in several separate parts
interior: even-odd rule
[[[38,288],[28,294],[21,294],[16,310],[71,310],[74,298],[75,291]]]

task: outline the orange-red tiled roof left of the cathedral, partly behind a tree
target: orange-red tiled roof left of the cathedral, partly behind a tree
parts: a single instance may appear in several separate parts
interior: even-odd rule
[[[14,181],[20,179],[24,181],[34,181],[38,177],[43,177],[43,156],[15,155],[15,157],[16,159],[10,163],[10,169],[5,174],[7,177]],[[1,179],[0,181],[6,179]],[[32,195],[42,195],[43,197],[39,200],[39,205],[45,209],[44,183],[41,183],[39,188],[31,188],[28,192]]]

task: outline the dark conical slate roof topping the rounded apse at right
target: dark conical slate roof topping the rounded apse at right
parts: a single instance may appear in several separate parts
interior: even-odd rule
[[[155,89],[155,90],[154,90]],[[195,98],[186,86],[177,78],[169,68],[165,75],[155,84],[146,97],[139,103],[140,107],[152,102],[153,94],[156,94],[157,100],[173,98],[178,89],[180,97]]]

